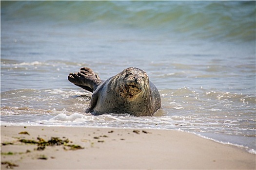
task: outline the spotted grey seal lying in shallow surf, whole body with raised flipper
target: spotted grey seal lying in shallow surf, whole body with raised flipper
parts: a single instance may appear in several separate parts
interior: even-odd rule
[[[70,73],[68,80],[93,93],[87,113],[153,116],[161,107],[157,87],[139,68],[126,68],[106,81],[101,80],[91,68],[80,68],[79,72]]]

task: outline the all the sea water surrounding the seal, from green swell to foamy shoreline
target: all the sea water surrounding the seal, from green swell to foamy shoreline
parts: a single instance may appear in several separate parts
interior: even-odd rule
[[[1,125],[185,131],[256,153],[256,1],[1,1]],[[85,113],[67,80],[145,70],[153,117]],[[180,139],[182,140],[182,139]]]

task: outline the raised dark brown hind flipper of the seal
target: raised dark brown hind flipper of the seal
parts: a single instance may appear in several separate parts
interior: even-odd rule
[[[80,72],[70,73],[68,81],[90,92],[103,82],[91,68],[80,68]]]

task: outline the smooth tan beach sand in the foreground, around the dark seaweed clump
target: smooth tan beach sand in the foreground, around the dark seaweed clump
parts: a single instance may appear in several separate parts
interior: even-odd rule
[[[256,169],[256,155],[234,146],[177,131],[134,130],[1,126],[1,170]],[[41,141],[68,138],[69,142],[38,151],[37,144],[19,141],[39,141],[38,137]],[[70,150],[68,144],[83,149]]]

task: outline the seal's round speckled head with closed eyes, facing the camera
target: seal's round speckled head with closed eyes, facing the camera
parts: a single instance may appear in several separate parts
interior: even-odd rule
[[[149,88],[148,75],[139,68],[126,68],[115,76],[114,88],[120,97],[133,101]]]

